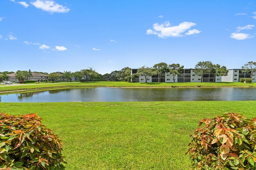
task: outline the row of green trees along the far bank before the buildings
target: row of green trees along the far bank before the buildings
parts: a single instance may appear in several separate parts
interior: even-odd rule
[[[82,69],[80,71],[71,72],[71,71],[64,71],[62,72],[56,72],[56,73],[43,73],[43,72],[36,72],[36,73],[42,73],[45,75],[48,75],[48,79],[54,81],[59,79],[59,75],[57,73],[61,73],[64,78],[66,78],[68,81],[72,81],[72,79],[75,79],[76,81],[79,81],[82,78],[85,78],[86,81],[93,81],[94,79],[106,79],[107,81],[129,81],[131,82],[134,76],[144,76],[146,81],[148,77],[158,75],[158,82],[161,82],[160,74],[161,73],[170,73],[173,77],[176,75],[180,75],[182,73],[184,66],[180,65],[178,63],[173,63],[168,65],[167,63],[158,63],[155,64],[153,67],[146,67],[142,66],[138,69],[137,73],[135,75],[131,74],[132,69],[130,67],[124,67],[119,71],[112,71],[111,73],[106,73],[104,75],[101,75],[97,73],[92,67],[88,69]],[[244,66],[241,67],[242,72],[250,73],[250,77],[252,78],[252,74],[256,73],[256,62],[250,61],[246,63]],[[34,71],[35,72],[35,71]],[[0,72],[1,80],[8,79],[8,74],[14,73],[4,71]],[[201,76],[201,81],[203,79],[203,76],[208,73],[214,74],[214,79],[216,76],[226,76],[228,75],[228,70],[226,69],[226,66],[220,66],[219,64],[213,64],[211,61],[200,61],[195,65],[195,74]],[[16,71],[16,77],[19,81],[23,80],[29,80],[30,77],[32,77],[32,72],[29,71]],[[175,80],[174,80],[175,82]]]

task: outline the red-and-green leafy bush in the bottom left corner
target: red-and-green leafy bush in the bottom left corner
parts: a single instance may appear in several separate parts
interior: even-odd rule
[[[62,141],[33,114],[0,113],[0,169],[64,169]]]

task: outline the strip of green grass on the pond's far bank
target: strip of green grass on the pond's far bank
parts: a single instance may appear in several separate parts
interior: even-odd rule
[[[2,85],[0,86],[0,93],[10,91],[24,91],[24,90],[37,90],[48,88],[61,88],[61,87],[256,87],[256,83],[128,83],[124,81],[95,81],[85,83],[40,83],[40,84],[18,84],[18,85]]]

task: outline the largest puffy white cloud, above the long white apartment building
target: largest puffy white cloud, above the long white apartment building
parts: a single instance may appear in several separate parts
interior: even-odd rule
[[[184,32],[189,30],[192,26],[195,26],[196,23],[193,22],[182,22],[178,26],[171,26],[169,21],[164,22],[163,24],[154,24],[154,30],[147,30],[146,34],[155,34],[160,38],[166,37],[183,37]],[[186,35],[198,34],[199,31],[190,31]]]

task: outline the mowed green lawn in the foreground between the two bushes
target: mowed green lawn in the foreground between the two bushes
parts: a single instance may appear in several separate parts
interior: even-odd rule
[[[225,112],[256,117],[256,101],[0,103],[0,112],[37,113],[63,140],[66,170],[188,170],[190,134]]]

